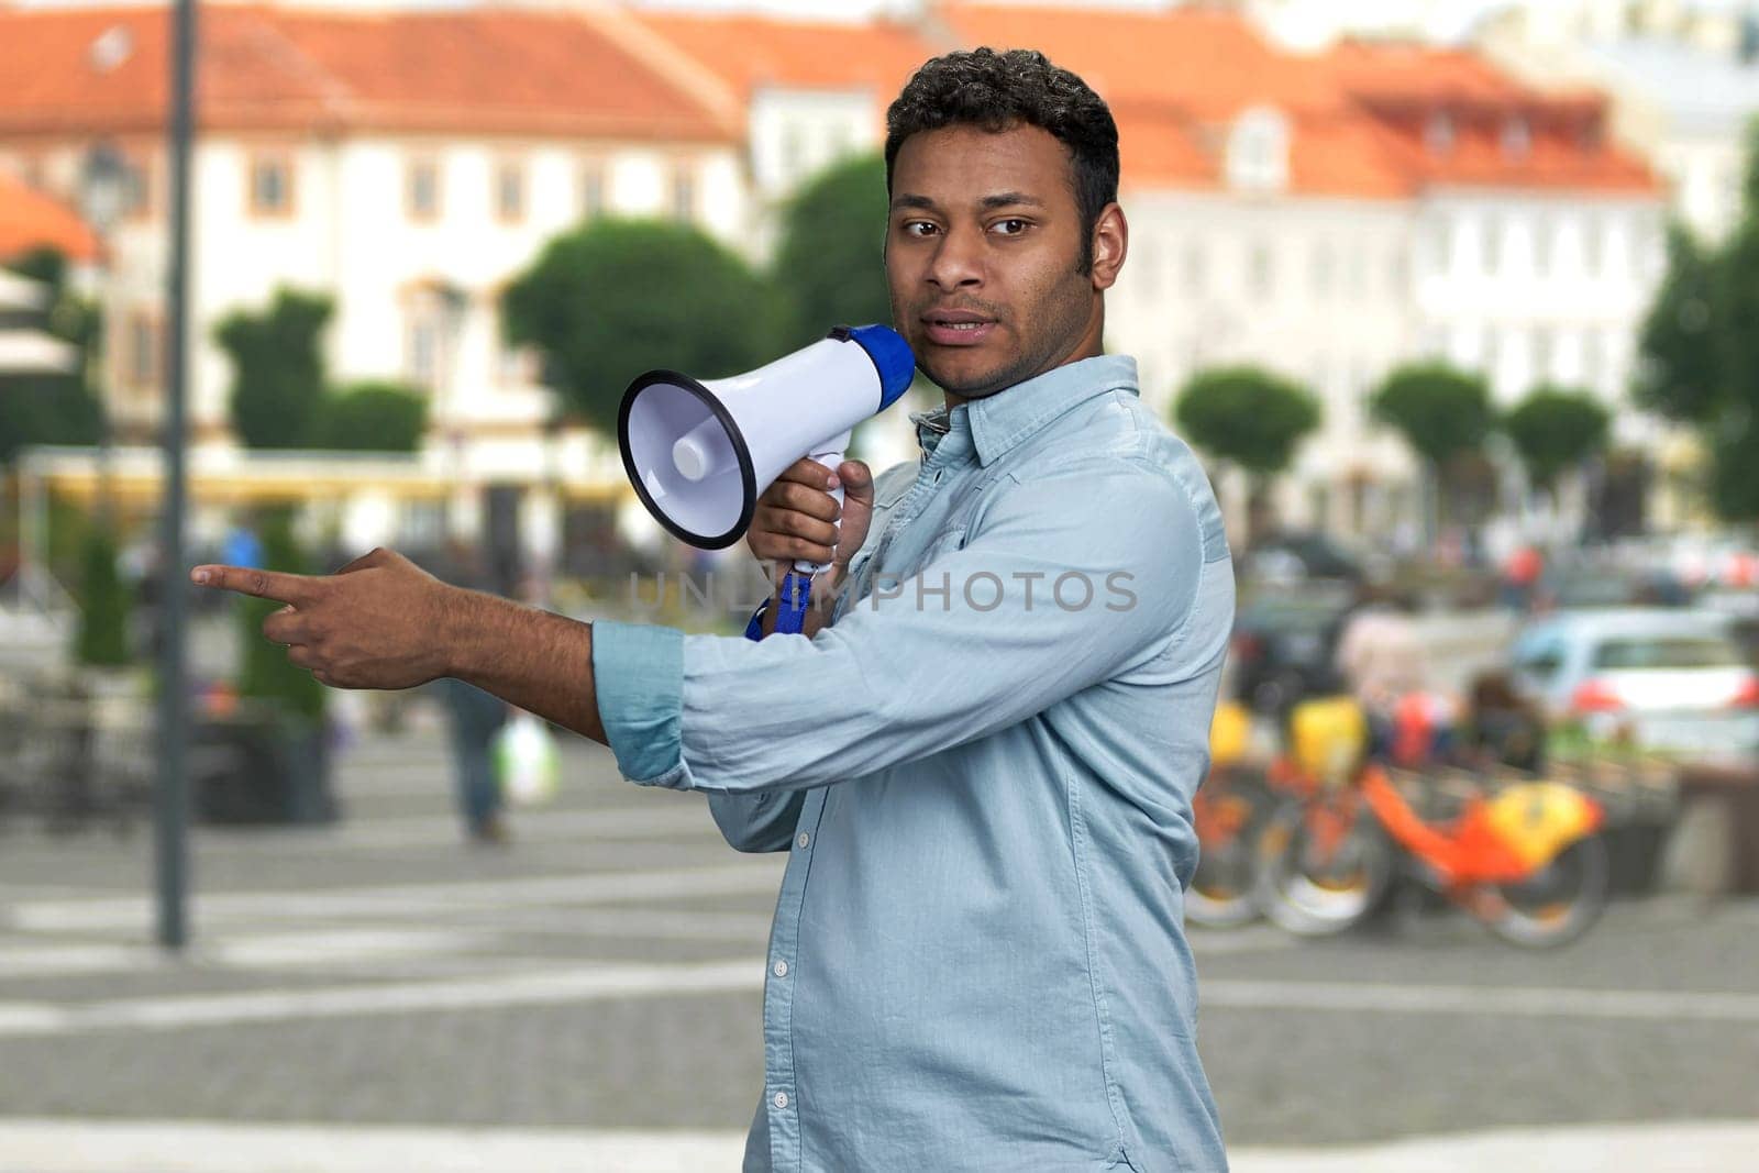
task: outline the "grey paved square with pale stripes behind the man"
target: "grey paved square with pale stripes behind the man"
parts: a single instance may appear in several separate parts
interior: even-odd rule
[[[0,1169],[260,1169],[260,1154],[317,1161],[288,1136],[336,1126],[354,1148],[273,1168],[730,1168],[762,1076],[781,860],[732,853],[698,797],[621,783],[582,744],[510,848],[466,848],[440,744],[415,728],[350,749],[341,827],[199,830],[195,946],[178,960],[150,944],[144,823],[127,841],[11,823]],[[1196,950],[1238,1168],[1284,1168],[1291,1145],[1606,1122],[1697,1127],[1704,1154],[1754,1143],[1694,1124],[1759,1115],[1752,902],[1618,906],[1555,955],[1455,922],[1328,943],[1252,927]],[[459,1129],[493,1131],[473,1148]],[[153,1136],[185,1155],[104,1164],[158,1152]],[[178,1162],[229,1136],[234,1164]],[[1421,1168],[1566,1168],[1522,1164],[1537,1141],[1513,1136]],[[422,1145],[480,1161],[373,1164]]]

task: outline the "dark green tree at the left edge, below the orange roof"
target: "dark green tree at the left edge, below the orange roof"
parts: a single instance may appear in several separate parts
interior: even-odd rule
[[[7,267],[47,292],[44,310],[25,325],[72,343],[79,359],[70,373],[0,375],[0,463],[28,445],[97,443],[104,433],[104,404],[91,390],[104,336],[97,306],[74,295],[67,259],[53,248],[26,251]]]

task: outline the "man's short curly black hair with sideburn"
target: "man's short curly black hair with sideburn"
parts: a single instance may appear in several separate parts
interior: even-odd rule
[[[1034,49],[971,49],[938,56],[904,84],[885,113],[885,188],[904,139],[941,127],[1050,132],[1069,151],[1082,215],[1082,271],[1092,266],[1092,230],[1117,200],[1117,123],[1085,81]]]

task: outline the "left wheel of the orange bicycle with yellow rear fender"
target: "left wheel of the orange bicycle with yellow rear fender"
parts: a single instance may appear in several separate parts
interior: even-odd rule
[[[1289,932],[1339,934],[1379,906],[1395,862],[1391,841],[1353,791],[1291,798],[1258,839],[1258,904]]]

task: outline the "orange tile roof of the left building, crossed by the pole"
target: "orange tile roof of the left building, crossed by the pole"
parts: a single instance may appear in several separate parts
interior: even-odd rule
[[[737,113],[674,79],[619,35],[619,19],[206,5],[197,120],[735,141]],[[164,7],[0,11],[0,132],[157,130],[167,25]],[[109,67],[104,46],[116,51]]]

